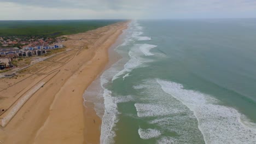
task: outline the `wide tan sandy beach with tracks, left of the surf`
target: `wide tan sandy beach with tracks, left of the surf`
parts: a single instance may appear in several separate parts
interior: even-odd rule
[[[0,143],[100,143],[101,119],[83,93],[127,23],[65,35],[66,52],[0,79]]]

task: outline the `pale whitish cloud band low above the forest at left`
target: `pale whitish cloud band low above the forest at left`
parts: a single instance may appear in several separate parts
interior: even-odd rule
[[[86,9],[42,7],[10,2],[0,4],[0,20],[63,20],[63,19],[131,19],[139,18],[139,11],[125,9]]]

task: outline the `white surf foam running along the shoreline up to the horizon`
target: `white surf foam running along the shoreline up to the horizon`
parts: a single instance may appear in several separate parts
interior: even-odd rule
[[[127,35],[123,44],[121,44],[116,51],[119,53],[125,54],[127,51],[121,50],[122,46],[131,45],[134,43],[135,40],[139,35],[143,34],[141,31],[143,28],[138,25],[136,22],[131,22],[129,28],[127,30]],[[145,39],[145,38],[144,38]],[[133,45],[129,51],[129,58],[126,58],[126,55],[122,59],[120,59],[117,63],[112,65],[108,70],[104,71],[101,75],[101,86],[104,89],[103,97],[104,97],[104,115],[102,118],[102,125],[101,125],[101,143],[114,143],[114,136],[115,136],[115,124],[118,122],[118,103],[125,103],[128,101],[133,100],[131,95],[121,97],[114,97],[112,92],[106,88],[110,81],[117,79],[121,75],[123,79],[129,76],[129,72],[132,69],[143,67],[143,63],[148,62],[147,59],[141,58],[143,53],[139,50],[138,45]],[[120,70],[120,66],[124,65],[124,69]]]

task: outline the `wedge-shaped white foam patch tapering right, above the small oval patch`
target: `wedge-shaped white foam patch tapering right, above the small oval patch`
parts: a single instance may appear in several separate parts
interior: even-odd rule
[[[165,116],[182,112],[172,106],[160,104],[135,104],[138,117]]]

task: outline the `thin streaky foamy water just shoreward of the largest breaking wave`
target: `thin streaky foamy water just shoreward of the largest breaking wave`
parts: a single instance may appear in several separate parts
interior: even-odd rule
[[[193,112],[180,101],[162,91],[156,80],[143,80],[133,88],[139,89],[139,101],[143,101],[135,104],[139,118],[150,125],[157,125],[160,131],[170,131],[176,134],[172,137],[176,143],[203,142]]]

